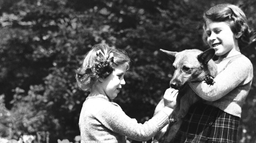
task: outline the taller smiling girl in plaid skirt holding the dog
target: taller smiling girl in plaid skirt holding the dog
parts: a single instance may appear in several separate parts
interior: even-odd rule
[[[218,4],[204,15],[204,40],[215,49],[218,75],[215,83],[189,83],[205,100],[194,104],[184,117],[173,143],[237,142],[241,107],[248,95],[252,63],[241,49],[254,38],[243,11],[232,4]]]

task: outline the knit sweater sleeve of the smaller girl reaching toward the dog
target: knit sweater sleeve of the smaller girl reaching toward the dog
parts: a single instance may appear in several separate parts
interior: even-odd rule
[[[115,103],[99,113],[101,123],[113,132],[124,135],[137,141],[151,139],[159,130],[169,124],[168,116],[160,111],[152,119],[144,124],[138,123],[136,119],[128,117],[121,107]]]

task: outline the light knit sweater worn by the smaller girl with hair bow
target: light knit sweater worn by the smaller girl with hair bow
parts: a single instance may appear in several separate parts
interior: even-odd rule
[[[126,143],[126,137],[145,141],[167,124],[169,119],[163,111],[144,124],[138,123],[104,95],[89,95],[79,118],[81,143]]]

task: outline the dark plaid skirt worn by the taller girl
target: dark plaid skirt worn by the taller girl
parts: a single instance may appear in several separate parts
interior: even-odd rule
[[[240,118],[198,103],[184,117],[172,143],[236,143]]]

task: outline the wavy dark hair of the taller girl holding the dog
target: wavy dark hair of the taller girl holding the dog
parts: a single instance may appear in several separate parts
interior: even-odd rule
[[[249,28],[244,12],[233,4],[218,4],[205,11],[203,14],[203,29],[206,29],[206,21],[226,22],[233,33],[242,32],[238,38],[238,46],[241,48],[249,45],[255,35]],[[203,33],[203,41],[207,44],[207,34]]]

